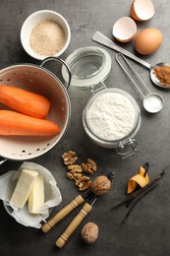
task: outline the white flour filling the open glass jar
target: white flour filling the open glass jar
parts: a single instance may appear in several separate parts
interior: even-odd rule
[[[135,108],[126,96],[105,93],[96,97],[87,111],[87,122],[99,138],[115,141],[127,136],[135,124]]]

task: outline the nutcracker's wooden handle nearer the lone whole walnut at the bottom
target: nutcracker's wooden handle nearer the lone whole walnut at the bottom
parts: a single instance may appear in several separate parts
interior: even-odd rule
[[[68,225],[66,230],[62,233],[62,235],[56,240],[55,244],[59,248],[62,248],[71,234],[76,230],[76,228],[83,222],[85,219],[85,216],[91,211],[92,204],[95,202],[96,197],[93,199],[91,204],[85,203],[83,209],[80,211],[80,213],[76,216],[76,218],[71,222],[71,224]]]

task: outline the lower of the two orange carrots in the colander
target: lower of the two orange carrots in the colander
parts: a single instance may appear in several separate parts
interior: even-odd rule
[[[0,135],[51,136],[59,132],[59,126],[52,121],[0,110]]]

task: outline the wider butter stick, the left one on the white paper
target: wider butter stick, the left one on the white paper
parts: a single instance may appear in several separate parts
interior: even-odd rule
[[[23,169],[17,182],[17,185],[15,187],[15,190],[13,192],[13,195],[11,197],[10,205],[15,206],[19,209],[25,207],[26,202],[28,201],[28,196],[31,187],[37,175],[38,172],[35,170],[30,170],[26,168]]]

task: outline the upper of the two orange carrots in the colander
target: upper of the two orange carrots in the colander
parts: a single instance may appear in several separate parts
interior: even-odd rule
[[[50,101],[45,96],[5,85],[0,86],[0,102],[37,118],[45,118],[50,107]]]

